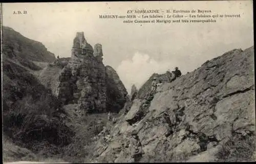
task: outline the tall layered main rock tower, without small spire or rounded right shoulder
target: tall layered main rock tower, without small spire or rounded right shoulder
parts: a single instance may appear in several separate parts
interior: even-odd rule
[[[105,66],[101,58],[93,56],[93,48],[83,32],[78,32],[74,38],[72,57],[63,68],[63,74],[69,76],[68,82],[65,78],[59,79],[58,95],[63,103],[73,100],[88,112],[106,111]]]

